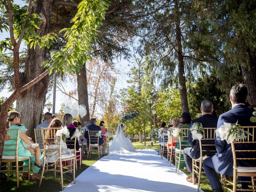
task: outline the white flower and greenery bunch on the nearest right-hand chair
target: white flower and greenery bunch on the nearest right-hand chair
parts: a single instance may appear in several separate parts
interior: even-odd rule
[[[234,124],[224,122],[224,125],[220,126],[215,132],[216,136],[219,136],[221,140],[226,140],[228,144],[232,141],[246,140],[246,134],[252,136],[250,132],[241,128],[238,122]]]

